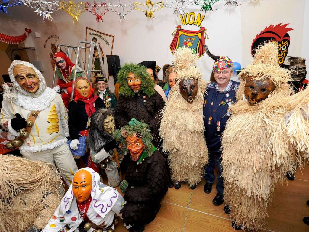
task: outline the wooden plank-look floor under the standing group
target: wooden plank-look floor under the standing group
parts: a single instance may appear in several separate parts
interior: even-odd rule
[[[295,180],[288,181],[275,190],[273,202],[268,208],[269,219],[261,232],[305,232],[309,226],[303,223],[303,217],[309,216],[309,165],[295,173]],[[182,185],[179,190],[169,188],[162,200],[157,217],[146,225],[146,232],[229,232],[229,216],[224,213],[223,205],[215,206],[212,200],[217,191],[215,185],[210,194],[204,193],[205,180],[196,189]],[[119,189],[118,189],[119,191]],[[120,191],[119,191],[120,192]],[[115,232],[128,231],[122,221]]]

